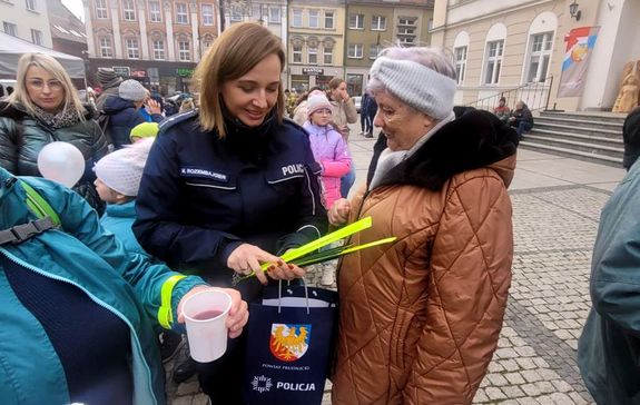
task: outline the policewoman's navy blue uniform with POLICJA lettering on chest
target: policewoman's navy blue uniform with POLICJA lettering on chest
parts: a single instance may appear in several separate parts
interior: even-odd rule
[[[235,285],[230,253],[248,243],[282,255],[326,231],[321,167],[307,134],[272,115],[257,128],[225,118],[227,136],[199,128],[197,110],[160,125],[136,199],[134,231],[152,256],[213,285],[259,297],[255,277]],[[236,278],[237,280],[237,278]],[[244,336],[223,358],[198,365],[200,385],[215,404],[242,404]]]

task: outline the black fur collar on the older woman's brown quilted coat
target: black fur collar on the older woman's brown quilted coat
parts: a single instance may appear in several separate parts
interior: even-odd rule
[[[454,175],[495,164],[515,154],[518,135],[489,111],[455,107],[455,120],[435,132],[414,155],[391,169],[377,187],[413,185],[440,190]],[[380,154],[386,148],[381,135],[374,147],[367,184]]]

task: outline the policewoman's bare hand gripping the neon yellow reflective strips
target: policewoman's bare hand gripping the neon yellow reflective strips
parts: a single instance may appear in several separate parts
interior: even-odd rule
[[[270,263],[267,271],[263,271],[260,264]],[[296,265],[287,264],[277,256],[260,249],[255,245],[242,244],[232,251],[227,259],[227,266],[242,275],[256,274],[258,280],[266,285],[268,283],[266,274],[274,279],[291,280],[305,275],[305,270]]]

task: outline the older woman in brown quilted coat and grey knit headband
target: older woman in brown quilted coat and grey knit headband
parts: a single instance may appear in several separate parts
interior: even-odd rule
[[[366,192],[337,200],[329,221],[371,216],[351,243],[397,239],[338,268],[334,405],[471,404],[498,345],[518,138],[490,112],[454,113],[454,78],[431,48],[386,49],[371,69],[386,148]]]

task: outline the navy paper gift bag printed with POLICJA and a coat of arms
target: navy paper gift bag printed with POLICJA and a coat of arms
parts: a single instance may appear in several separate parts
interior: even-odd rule
[[[266,288],[249,307],[246,404],[321,404],[336,312],[335,292],[282,283]]]

